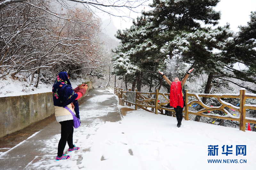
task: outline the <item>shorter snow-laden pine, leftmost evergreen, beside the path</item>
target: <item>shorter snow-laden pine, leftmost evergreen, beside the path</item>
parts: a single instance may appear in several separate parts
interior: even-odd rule
[[[145,70],[157,71],[160,62],[163,62],[163,54],[159,53],[159,47],[153,43],[150,37],[148,28],[150,23],[147,22],[146,17],[138,17],[133,21],[131,28],[117,31],[116,38],[121,40],[121,45],[115,50],[116,55],[113,57],[115,73],[117,75],[127,75],[127,81],[132,83],[132,90],[140,91],[141,85],[148,85],[151,87],[152,82],[146,77],[159,79],[156,73],[148,73]],[[149,74],[149,75],[148,75]],[[143,76],[145,75],[145,76]],[[146,81],[143,81],[143,78]],[[148,82],[149,81],[149,82]]]

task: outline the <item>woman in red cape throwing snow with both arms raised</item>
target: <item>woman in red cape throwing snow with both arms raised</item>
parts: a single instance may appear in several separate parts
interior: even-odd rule
[[[163,75],[163,78],[167,81],[167,83],[171,86],[171,91],[170,91],[170,106],[173,107],[175,113],[176,113],[176,118],[178,121],[177,127],[180,128],[181,125],[181,120],[182,120],[182,111],[184,107],[184,101],[183,101],[183,96],[184,94],[182,93],[182,87],[185,84],[185,82],[188,79],[189,74],[194,70],[192,68],[191,70],[188,71],[188,73],[185,75],[184,79],[180,81],[178,77],[174,79],[174,81],[170,81],[163,72],[159,71],[160,74]]]

